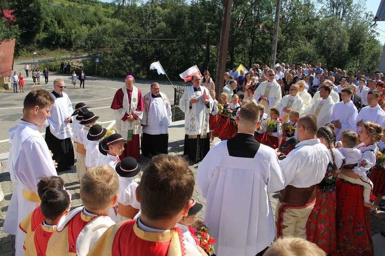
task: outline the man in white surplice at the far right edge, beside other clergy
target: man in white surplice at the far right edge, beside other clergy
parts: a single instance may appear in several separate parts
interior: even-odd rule
[[[383,129],[385,129],[385,112],[378,105],[379,97],[380,93],[377,90],[368,92],[367,99],[369,106],[362,108],[357,115],[357,133],[361,131],[363,123],[367,121],[379,124]]]

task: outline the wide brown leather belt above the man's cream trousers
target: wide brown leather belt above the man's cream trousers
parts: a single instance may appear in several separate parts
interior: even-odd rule
[[[279,201],[292,204],[304,205],[312,202],[316,198],[316,185],[309,188],[297,188],[292,185],[287,185],[279,191]]]

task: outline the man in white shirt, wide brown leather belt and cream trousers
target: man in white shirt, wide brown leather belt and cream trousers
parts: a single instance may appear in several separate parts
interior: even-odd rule
[[[317,139],[317,130],[315,116],[302,116],[297,124],[300,143],[280,162],[285,188],[279,192],[276,207],[277,238],[306,239],[307,218],[316,202],[316,184],[322,181],[331,159],[328,148]]]

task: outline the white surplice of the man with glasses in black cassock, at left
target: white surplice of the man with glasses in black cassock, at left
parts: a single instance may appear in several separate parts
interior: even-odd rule
[[[56,98],[51,93],[55,103],[51,107],[51,116],[47,118],[49,123],[49,130],[52,135],[57,137],[59,140],[64,140],[72,137],[70,123],[65,123],[64,120],[67,116],[71,116],[73,113],[72,103],[69,100],[67,93],[62,92],[63,97]]]

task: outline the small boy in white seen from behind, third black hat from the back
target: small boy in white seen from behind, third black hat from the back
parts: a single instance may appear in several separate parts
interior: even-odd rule
[[[103,140],[107,130],[100,125],[93,125],[88,133],[87,140],[89,141],[86,147],[86,166],[87,169],[91,169],[96,166],[96,161],[102,156],[99,152],[99,143]]]

